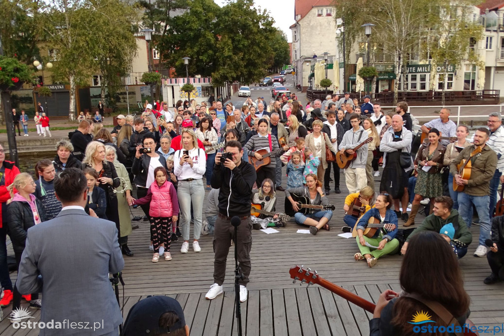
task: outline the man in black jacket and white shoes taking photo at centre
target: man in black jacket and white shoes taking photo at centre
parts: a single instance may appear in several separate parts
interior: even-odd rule
[[[220,188],[219,214],[214,231],[214,284],[210,287],[207,299],[212,300],[222,294],[222,284],[226,275],[226,260],[234,237],[231,218],[239,217],[235,248],[243,277],[240,279],[240,302],[247,299],[248,275],[250,274],[250,248],[252,247],[252,222],[250,221],[250,200],[252,186],[256,182],[256,170],[243,161],[241,144],[236,140],[226,143],[225,153],[217,153],[212,173],[212,188]]]

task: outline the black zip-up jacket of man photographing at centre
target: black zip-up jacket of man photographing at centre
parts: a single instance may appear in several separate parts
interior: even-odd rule
[[[214,164],[211,186],[220,188],[219,212],[227,217],[250,216],[254,182],[256,170],[248,162],[242,160],[232,171],[222,164]]]

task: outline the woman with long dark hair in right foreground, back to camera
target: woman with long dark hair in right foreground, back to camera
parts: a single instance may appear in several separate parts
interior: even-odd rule
[[[436,326],[466,323],[470,298],[464,289],[459,262],[437,232],[422,232],[411,239],[399,282],[402,293],[386,290],[380,295],[369,321],[370,336],[413,335],[410,321],[420,311],[428,311],[429,320]],[[438,308],[447,310],[450,322],[444,322],[434,312]]]

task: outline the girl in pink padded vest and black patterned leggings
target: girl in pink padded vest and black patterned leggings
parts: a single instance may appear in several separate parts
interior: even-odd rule
[[[178,198],[175,187],[167,181],[164,167],[154,170],[155,181],[150,185],[145,197],[134,200],[134,204],[150,204],[149,221],[151,222],[151,237],[154,247],[152,262],[159,261],[159,254],[164,253],[164,260],[171,260],[170,228],[171,222],[178,219]]]

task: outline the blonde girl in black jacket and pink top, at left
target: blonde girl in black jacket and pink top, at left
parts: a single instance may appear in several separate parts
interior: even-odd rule
[[[26,235],[28,229],[46,220],[42,202],[38,200],[33,193],[35,192],[35,182],[28,173],[21,173],[14,178],[14,182],[8,187],[11,193],[11,199],[7,201],[7,225],[9,227],[9,236],[11,237],[16,264],[19,268],[21,255],[25,249]],[[17,193],[14,193],[14,189]],[[6,294],[7,295],[7,294]],[[38,299],[38,293],[23,295],[30,302],[30,308],[40,309],[41,301]],[[14,286],[14,302],[12,305],[13,313],[11,321],[19,321],[18,309],[21,305],[21,293]]]

